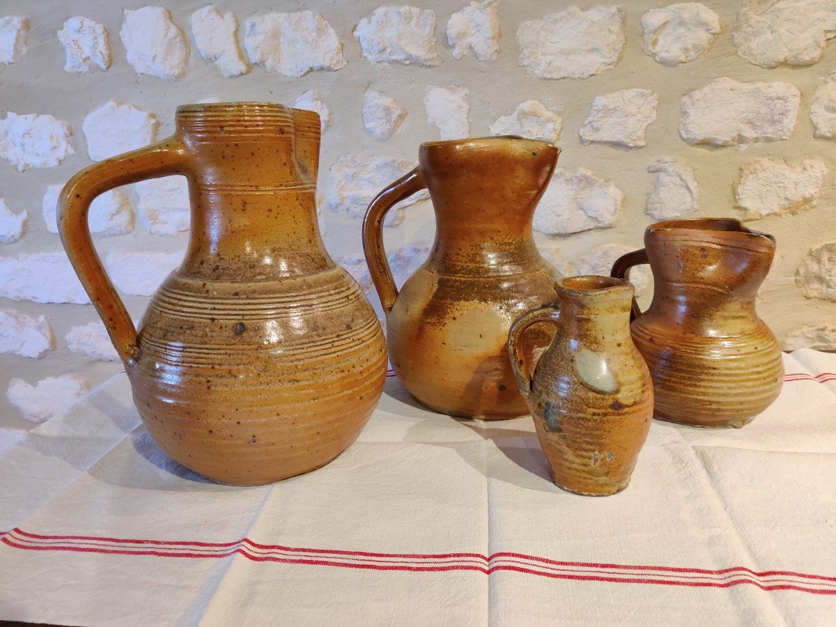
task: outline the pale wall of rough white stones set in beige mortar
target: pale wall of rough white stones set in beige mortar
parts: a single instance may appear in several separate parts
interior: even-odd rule
[[[201,100],[322,115],[324,239],[367,290],[360,219],[417,145],[514,133],[563,147],[535,217],[558,268],[605,273],[655,220],[742,217],[778,240],[762,317],[787,348],[836,348],[836,3],[660,4],[6,0],[0,446],[121,368],[55,234],[60,187],[169,135],[176,105]],[[126,187],[92,208],[136,319],[184,250],[182,182]],[[433,235],[426,196],[412,200],[385,234],[400,280]],[[647,273],[635,280],[646,302]]]

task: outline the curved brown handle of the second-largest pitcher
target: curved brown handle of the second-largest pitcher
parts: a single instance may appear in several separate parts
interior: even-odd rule
[[[366,263],[380,297],[380,304],[387,314],[392,310],[395,298],[398,298],[398,286],[395,285],[395,278],[392,277],[383,247],[383,221],[393,206],[422,189],[426,189],[426,183],[421,176],[421,170],[415,168],[375,196],[363,220],[363,251]]]

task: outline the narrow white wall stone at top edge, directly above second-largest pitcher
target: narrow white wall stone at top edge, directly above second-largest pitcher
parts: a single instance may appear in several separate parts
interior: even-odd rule
[[[480,61],[499,56],[499,0],[472,2],[456,11],[447,22],[447,43],[461,59],[473,51]]]

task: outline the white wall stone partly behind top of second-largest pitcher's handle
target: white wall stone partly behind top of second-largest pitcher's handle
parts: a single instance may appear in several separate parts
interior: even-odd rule
[[[415,167],[415,161],[372,155],[344,155],[329,171],[328,203],[331,210],[362,218],[377,194]],[[400,201],[386,215],[385,226],[397,227],[404,220],[404,207],[429,197],[426,190]]]

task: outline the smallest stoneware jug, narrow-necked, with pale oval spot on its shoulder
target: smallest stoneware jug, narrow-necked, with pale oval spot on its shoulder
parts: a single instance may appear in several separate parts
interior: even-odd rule
[[[630,339],[633,286],[609,277],[558,281],[558,299],[524,314],[508,334],[517,385],[558,487],[588,496],[621,492],[653,417],[653,384]],[[531,374],[518,348],[532,324],[557,328]]]

